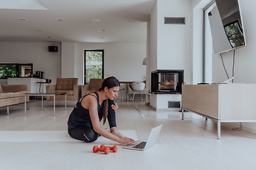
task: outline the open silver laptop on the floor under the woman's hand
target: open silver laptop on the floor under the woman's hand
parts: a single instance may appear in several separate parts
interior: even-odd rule
[[[134,149],[134,150],[140,150],[144,151],[154,145],[156,143],[157,137],[159,136],[159,132],[161,130],[161,127],[163,125],[159,125],[156,128],[151,129],[149,139],[146,142],[142,141],[135,141],[135,145],[125,145],[123,148],[124,149]]]

